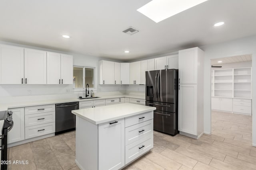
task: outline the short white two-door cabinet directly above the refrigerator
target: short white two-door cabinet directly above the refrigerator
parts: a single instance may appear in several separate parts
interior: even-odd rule
[[[178,55],[155,58],[155,70],[178,69]]]

